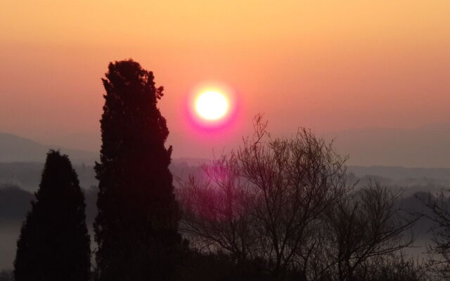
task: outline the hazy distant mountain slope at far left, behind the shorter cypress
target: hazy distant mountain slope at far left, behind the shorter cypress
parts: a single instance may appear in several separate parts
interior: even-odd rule
[[[94,164],[94,161],[98,159],[97,152],[46,145],[9,133],[0,133],[0,162],[43,163],[46,159],[46,153],[50,149],[60,150],[60,152],[69,155],[72,162],[77,164]]]

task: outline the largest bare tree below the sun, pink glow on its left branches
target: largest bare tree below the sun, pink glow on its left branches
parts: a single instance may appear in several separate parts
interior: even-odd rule
[[[182,184],[182,228],[198,247],[264,259],[282,276],[300,262],[323,212],[349,190],[344,162],[307,129],[271,139],[258,116],[253,138],[204,166],[205,178]]]

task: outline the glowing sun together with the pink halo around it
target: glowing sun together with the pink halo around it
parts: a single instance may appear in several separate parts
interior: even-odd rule
[[[217,131],[229,126],[236,117],[235,92],[224,84],[201,84],[188,95],[186,111],[196,129]]]

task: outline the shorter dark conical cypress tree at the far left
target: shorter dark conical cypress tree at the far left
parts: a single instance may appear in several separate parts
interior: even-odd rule
[[[35,196],[17,242],[15,280],[89,280],[84,195],[67,155],[47,153]]]

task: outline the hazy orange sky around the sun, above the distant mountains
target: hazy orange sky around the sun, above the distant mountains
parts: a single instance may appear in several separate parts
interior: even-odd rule
[[[250,133],[414,128],[450,122],[450,1],[0,1],[0,131],[96,150],[101,77],[134,58],[165,86],[174,157],[206,157]],[[205,81],[240,115],[186,124]]]

